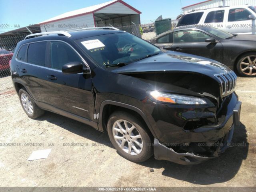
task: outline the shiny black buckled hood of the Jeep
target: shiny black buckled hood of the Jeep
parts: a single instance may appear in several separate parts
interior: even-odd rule
[[[226,73],[228,67],[208,58],[175,51],[164,51],[156,56],[130,63],[112,70],[120,74],[151,72],[192,72],[214,77],[214,74]]]

